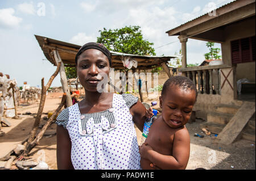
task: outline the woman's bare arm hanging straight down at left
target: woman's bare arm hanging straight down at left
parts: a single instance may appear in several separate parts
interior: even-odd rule
[[[71,162],[71,140],[67,129],[57,125],[57,169],[74,170]]]

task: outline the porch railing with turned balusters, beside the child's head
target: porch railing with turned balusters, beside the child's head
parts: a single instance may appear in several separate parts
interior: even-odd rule
[[[189,77],[197,86],[198,94],[221,95],[220,69],[230,68],[228,65],[195,66],[180,68],[183,75]]]

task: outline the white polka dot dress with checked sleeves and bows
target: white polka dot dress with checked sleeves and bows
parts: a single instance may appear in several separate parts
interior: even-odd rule
[[[129,112],[137,101],[131,94],[114,94],[112,108],[105,111],[81,114],[78,104],[61,111],[56,124],[68,130],[75,169],[141,169]]]

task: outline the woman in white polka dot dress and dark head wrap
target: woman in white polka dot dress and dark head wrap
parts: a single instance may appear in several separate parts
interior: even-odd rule
[[[85,98],[57,117],[58,169],[140,169],[134,123],[143,130],[146,108],[131,94],[97,91],[111,62],[99,43],[83,45],[76,55]]]

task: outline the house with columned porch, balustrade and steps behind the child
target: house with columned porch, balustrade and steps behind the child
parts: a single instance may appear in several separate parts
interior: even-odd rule
[[[207,119],[201,127],[224,144],[241,137],[255,142],[255,93],[237,94],[237,81],[245,78],[246,89],[255,91],[255,0],[233,1],[166,33],[178,36],[179,71],[197,85],[195,110]],[[220,43],[223,64],[187,68],[188,39]]]

